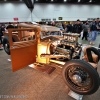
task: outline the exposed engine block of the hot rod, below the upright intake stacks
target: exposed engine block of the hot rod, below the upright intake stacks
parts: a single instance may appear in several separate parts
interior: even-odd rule
[[[81,54],[81,44],[73,41],[66,41],[66,39],[60,42],[54,42],[50,45],[50,54],[52,55],[64,55],[58,60],[70,60],[79,59]]]

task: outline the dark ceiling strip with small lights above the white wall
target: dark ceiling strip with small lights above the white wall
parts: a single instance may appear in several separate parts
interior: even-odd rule
[[[0,0],[2,2],[23,2],[25,0]],[[35,3],[100,4],[100,0],[34,0]]]

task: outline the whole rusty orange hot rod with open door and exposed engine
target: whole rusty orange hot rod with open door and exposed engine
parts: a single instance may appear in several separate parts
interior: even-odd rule
[[[3,38],[13,71],[34,64],[34,68],[50,74],[56,65],[63,68],[64,81],[74,92],[90,95],[98,90],[100,53],[96,48],[79,44],[78,34],[61,34],[56,27],[25,23],[18,26],[9,29]]]

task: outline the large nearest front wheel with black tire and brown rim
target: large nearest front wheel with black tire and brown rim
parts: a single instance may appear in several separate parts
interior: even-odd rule
[[[70,60],[64,65],[63,78],[68,87],[81,95],[95,93],[100,85],[99,74],[83,60]]]

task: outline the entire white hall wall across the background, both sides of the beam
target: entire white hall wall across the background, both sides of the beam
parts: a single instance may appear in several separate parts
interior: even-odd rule
[[[41,19],[55,19],[63,17],[62,21],[87,20],[100,17],[99,5],[78,4],[35,4],[31,11],[24,3],[0,3],[0,22],[41,21]]]

